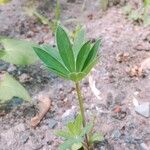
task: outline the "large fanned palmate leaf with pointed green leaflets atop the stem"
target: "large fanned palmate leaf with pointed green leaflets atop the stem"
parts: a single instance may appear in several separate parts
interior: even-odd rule
[[[34,50],[50,71],[65,79],[78,82],[90,72],[97,62],[97,51],[100,46],[100,40],[92,47],[90,42],[83,42],[85,41],[84,32],[81,30],[77,34],[72,46],[65,30],[58,26],[57,47],[42,45],[40,48],[34,47]]]

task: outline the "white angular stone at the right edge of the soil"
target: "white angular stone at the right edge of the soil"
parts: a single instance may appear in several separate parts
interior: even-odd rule
[[[150,117],[150,103],[145,102],[142,103],[141,105],[137,105],[135,107],[135,111],[144,117]]]

